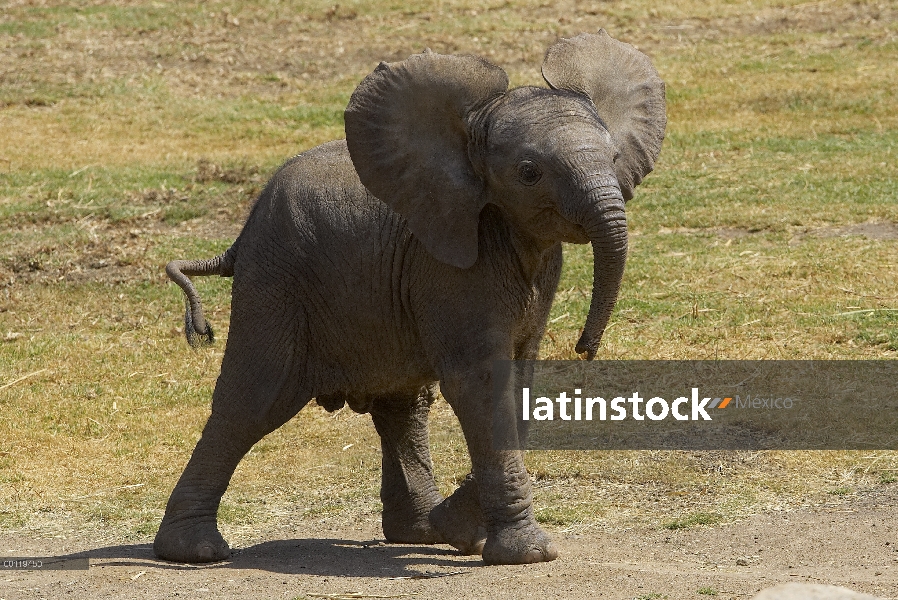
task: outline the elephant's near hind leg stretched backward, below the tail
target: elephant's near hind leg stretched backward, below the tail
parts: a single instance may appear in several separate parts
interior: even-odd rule
[[[301,383],[305,360],[296,352],[296,316],[259,310],[235,293],[212,414],[166,506],[153,543],[159,558],[201,563],[229,556],[217,515],[234,470],[256,442],[311,399]],[[266,331],[266,323],[276,328]]]

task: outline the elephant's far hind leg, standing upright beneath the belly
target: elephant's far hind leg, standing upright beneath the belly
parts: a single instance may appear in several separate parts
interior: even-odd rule
[[[433,480],[427,417],[435,390],[417,395],[379,398],[371,407],[383,450],[383,531],[388,542],[440,544],[443,536],[428,515],[443,497]]]

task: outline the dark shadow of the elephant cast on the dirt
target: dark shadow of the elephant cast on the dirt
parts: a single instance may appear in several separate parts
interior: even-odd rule
[[[386,544],[382,540],[287,539],[236,549],[221,562],[189,565],[159,560],[152,544],[107,546],[65,558],[89,557],[104,566],[171,570],[256,569],[284,575],[332,577],[416,577],[434,571],[483,565],[479,556],[462,556],[449,546]]]

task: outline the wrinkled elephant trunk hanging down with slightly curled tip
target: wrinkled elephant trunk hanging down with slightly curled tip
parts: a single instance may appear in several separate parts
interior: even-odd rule
[[[616,183],[593,188],[586,196],[585,214],[576,221],[592,243],[593,284],[589,315],[577,342],[578,354],[586,360],[596,355],[602,334],[617,302],[624,264],[627,261],[627,216],[624,199]]]

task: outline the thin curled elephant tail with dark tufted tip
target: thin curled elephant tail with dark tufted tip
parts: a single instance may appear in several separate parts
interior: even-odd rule
[[[203,316],[203,304],[190,276],[218,275],[234,276],[234,259],[237,255],[237,244],[228,248],[215,258],[201,260],[173,260],[165,265],[169,278],[177,283],[186,295],[184,305],[184,335],[191,348],[211,346],[215,342],[212,326]]]

